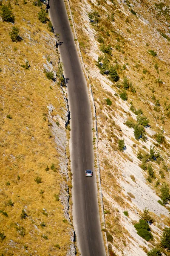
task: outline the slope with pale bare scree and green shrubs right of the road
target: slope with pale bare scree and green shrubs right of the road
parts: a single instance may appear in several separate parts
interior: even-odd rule
[[[96,105],[110,254],[146,256],[161,246],[169,255],[160,240],[170,224],[170,6],[69,3]],[[151,230],[140,230],[143,238],[134,227],[139,219],[153,221],[143,222]]]

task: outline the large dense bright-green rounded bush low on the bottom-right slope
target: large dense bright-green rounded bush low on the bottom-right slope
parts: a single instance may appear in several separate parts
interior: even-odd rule
[[[150,233],[150,228],[146,221],[140,219],[139,223],[136,223],[134,227],[137,230],[137,234],[146,241],[149,241],[153,237]]]

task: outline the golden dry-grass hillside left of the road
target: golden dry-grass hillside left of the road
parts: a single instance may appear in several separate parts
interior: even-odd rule
[[[40,1],[0,3],[0,255],[74,255],[56,40]]]

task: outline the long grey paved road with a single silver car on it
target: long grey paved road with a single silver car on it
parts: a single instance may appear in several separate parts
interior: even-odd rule
[[[64,0],[50,0],[50,16],[56,34],[60,34],[59,52],[68,80],[71,111],[71,164],[73,170],[74,228],[82,256],[105,256],[97,202],[96,176],[85,177],[85,169],[94,170],[91,106],[74,36]]]

